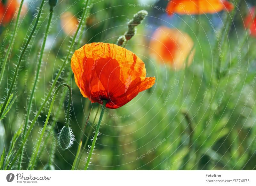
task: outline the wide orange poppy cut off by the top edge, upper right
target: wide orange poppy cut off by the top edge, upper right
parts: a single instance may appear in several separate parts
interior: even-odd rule
[[[169,15],[217,13],[222,10],[231,11],[234,5],[227,0],[171,0],[166,9]]]

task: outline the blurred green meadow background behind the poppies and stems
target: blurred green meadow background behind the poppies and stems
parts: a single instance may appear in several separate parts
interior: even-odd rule
[[[26,2],[27,12],[21,18],[18,37],[15,39],[8,60],[6,78],[2,87],[6,86],[12,77],[20,46],[24,42],[30,23],[34,20],[32,15],[36,13],[35,7],[40,1],[33,2],[35,3]],[[49,82],[55,77],[61,59],[68,50],[69,36],[63,32],[58,16],[63,11],[68,11],[79,18],[83,5],[82,1],[76,2],[67,10],[74,1],[60,0],[58,8],[54,11],[53,20],[56,19],[56,23],[46,43],[44,63],[33,103],[34,112],[40,106],[45,92],[48,93],[51,86]],[[137,3],[142,5],[129,5]],[[255,5],[255,1],[242,0],[239,5],[241,11],[236,13],[230,32],[223,33],[226,43],[222,45],[221,69],[226,69],[226,72],[223,71],[224,75],[220,77],[214,76],[218,67],[215,60],[218,54],[214,49],[216,37],[208,20],[212,19],[215,27],[221,29],[224,19],[229,14],[220,12],[197,16],[202,22],[199,26],[189,16],[167,16],[163,10],[151,6],[165,8],[167,3],[168,1],[165,0],[94,1],[87,19],[87,27],[83,30],[83,44],[116,43],[117,38],[127,30],[128,19],[132,19],[133,14],[139,10],[148,11],[148,16],[138,26],[137,34],[129,41],[126,48],[144,61],[147,76],[155,76],[156,84],[151,89],[141,92],[127,105],[115,110],[108,109],[108,114],[103,117],[101,134],[97,140],[97,149],[92,156],[90,170],[255,170],[256,54],[254,51],[256,46],[255,38],[245,32],[243,23],[248,7]],[[48,4],[45,4],[44,8],[42,23],[22,62],[15,85],[14,94],[18,95],[17,102],[7,117],[1,121],[1,152],[4,146],[8,148],[15,130],[25,120],[28,102],[26,98],[29,96],[35,76],[36,61],[49,11]],[[160,65],[154,61],[148,54],[148,44],[154,30],[145,27],[145,24],[156,27],[164,25],[188,33],[196,47],[192,64],[186,69],[174,71],[168,64]],[[4,41],[5,33],[10,32],[8,29],[13,29],[13,25],[1,27],[1,41]],[[8,35],[6,39],[9,40],[10,36]],[[7,46],[8,42],[5,44]],[[241,68],[238,67],[239,60],[241,60]],[[239,75],[238,69],[240,69]],[[65,82],[70,81],[67,79],[68,72],[70,72],[69,65],[65,69]],[[177,80],[179,82],[172,86]],[[89,122],[82,135],[83,145],[87,138],[92,138],[93,134],[88,136],[88,132],[98,108],[98,104],[91,104],[88,99],[82,97],[73,76],[71,82],[73,91],[71,127],[75,142],[66,151],[56,148],[53,160],[56,170],[71,169],[89,110],[92,108]],[[2,87],[1,97],[5,95]],[[171,94],[170,90],[173,90]],[[169,98],[164,105],[167,97]],[[64,125],[67,99],[66,97],[64,100],[56,101],[54,105],[51,122],[55,118],[57,107],[61,106],[60,117],[55,127],[56,134]],[[47,113],[48,109],[44,109],[29,137],[24,164],[28,163],[39,128],[43,127]],[[44,145],[46,150],[38,161],[36,167],[38,170],[43,169],[49,160],[51,142]],[[87,145],[85,147],[78,169],[84,168],[84,159],[88,151]]]

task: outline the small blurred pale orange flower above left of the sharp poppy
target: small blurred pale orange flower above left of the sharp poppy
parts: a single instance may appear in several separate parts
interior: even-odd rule
[[[78,23],[76,16],[71,12],[65,12],[60,17],[61,27],[67,35],[73,35],[76,32]]]

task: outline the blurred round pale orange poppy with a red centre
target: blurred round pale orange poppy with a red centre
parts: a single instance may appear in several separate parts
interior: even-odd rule
[[[150,53],[157,61],[170,64],[174,69],[184,67],[193,60],[195,50],[191,37],[177,29],[159,27],[150,41]]]

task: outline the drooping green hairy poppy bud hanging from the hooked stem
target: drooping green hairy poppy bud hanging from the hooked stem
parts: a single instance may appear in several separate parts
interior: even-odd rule
[[[65,151],[73,145],[74,135],[71,129],[67,126],[64,126],[58,136],[59,147]]]

